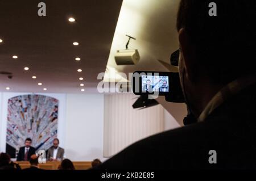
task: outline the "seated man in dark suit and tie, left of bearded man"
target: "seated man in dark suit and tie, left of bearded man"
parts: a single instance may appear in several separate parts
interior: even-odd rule
[[[29,161],[32,154],[35,154],[35,148],[31,146],[32,140],[27,138],[25,146],[20,147],[17,161]]]

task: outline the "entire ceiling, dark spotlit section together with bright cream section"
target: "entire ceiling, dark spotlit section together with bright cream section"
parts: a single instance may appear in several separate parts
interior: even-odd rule
[[[43,92],[47,87],[47,92],[81,93],[79,84],[84,83],[85,92],[96,92],[97,75],[105,71],[107,62],[126,74],[168,71],[157,60],[169,63],[178,48],[179,0],[123,0],[122,7],[118,0],[44,2],[46,17],[37,15],[34,0],[0,2],[0,71],[13,73],[13,79],[0,74],[0,91],[10,87],[12,92]],[[69,16],[76,22],[68,22]],[[137,65],[117,66],[114,53],[125,49],[126,34],[137,39],[130,41],[129,49],[138,49],[141,60]],[[80,45],[75,47],[73,41]],[[77,56],[80,62],[75,61]],[[24,71],[25,66],[30,70]]]

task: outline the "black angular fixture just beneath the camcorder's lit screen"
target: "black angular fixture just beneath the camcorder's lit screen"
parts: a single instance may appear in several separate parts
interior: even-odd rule
[[[156,106],[159,103],[155,99],[148,99],[148,95],[141,95],[139,98],[133,103],[133,108],[148,108],[152,106]]]

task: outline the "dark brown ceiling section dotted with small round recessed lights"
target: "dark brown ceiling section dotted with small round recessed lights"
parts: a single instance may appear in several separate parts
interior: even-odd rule
[[[77,93],[80,83],[85,84],[85,92],[95,91],[97,75],[106,68],[122,1],[44,1],[42,17],[39,2],[0,1],[0,71],[13,74],[12,79],[0,74],[0,91],[10,87],[12,92],[43,92],[46,87],[46,92]],[[69,22],[70,16],[76,22]],[[30,69],[25,71],[25,66]]]

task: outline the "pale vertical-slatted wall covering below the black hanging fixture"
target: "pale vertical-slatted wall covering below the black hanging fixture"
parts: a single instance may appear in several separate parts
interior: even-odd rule
[[[163,107],[133,109],[132,93],[105,95],[104,156],[110,157],[130,144],[164,131]]]

